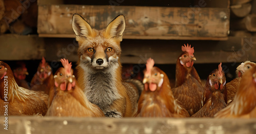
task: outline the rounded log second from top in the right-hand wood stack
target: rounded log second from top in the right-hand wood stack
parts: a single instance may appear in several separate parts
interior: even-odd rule
[[[242,18],[247,16],[250,12],[251,12],[250,3],[230,6],[231,18]]]

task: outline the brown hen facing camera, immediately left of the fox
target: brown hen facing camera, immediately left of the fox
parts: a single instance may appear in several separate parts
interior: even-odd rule
[[[63,67],[54,74],[54,95],[50,97],[48,116],[105,117],[100,108],[86,98],[73,75],[72,65],[60,60]],[[52,91],[52,90],[51,90]]]

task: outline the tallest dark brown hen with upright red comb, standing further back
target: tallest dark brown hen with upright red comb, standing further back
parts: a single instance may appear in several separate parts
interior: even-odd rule
[[[201,79],[193,64],[194,47],[187,44],[182,46],[182,53],[176,63],[176,88],[173,88],[175,98],[178,98],[189,115],[195,114],[200,109],[203,87]]]

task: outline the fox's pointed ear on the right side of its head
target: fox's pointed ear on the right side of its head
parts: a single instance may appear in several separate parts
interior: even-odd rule
[[[106,33],[110,35],[110,38],[116,38],[122,41],[123,31],[125,29],[125,18],[124,16],[118,15],[113,19],[106,27]]]

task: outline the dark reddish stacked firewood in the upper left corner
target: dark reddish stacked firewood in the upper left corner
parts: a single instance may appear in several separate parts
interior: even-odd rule
[[[0,34],[27,35],[36,32],[37,2],[0,0]]]

